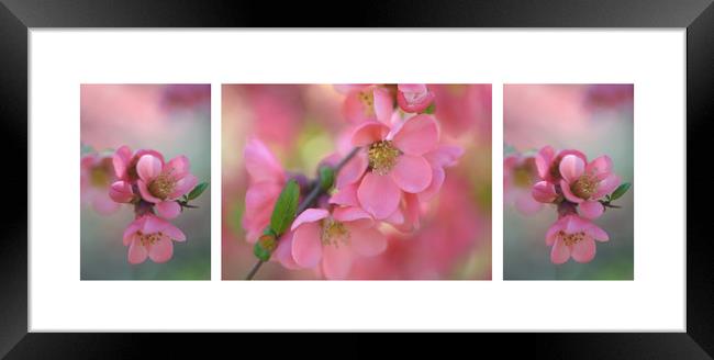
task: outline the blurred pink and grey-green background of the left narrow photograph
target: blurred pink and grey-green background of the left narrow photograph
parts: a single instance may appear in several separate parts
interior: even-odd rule
[[[122,235],[133,221],[123,204],[109,215],[82,204],[80,220],[82,280],[208,280],[211,275],[211,87],[210,85],[82,85],[81,151],[111,154],[122,145],[156,149],[171,159],[186,155],[191,172],[208,190],[172,220],[187,236],[174,243],[166,263],[126,260]]]

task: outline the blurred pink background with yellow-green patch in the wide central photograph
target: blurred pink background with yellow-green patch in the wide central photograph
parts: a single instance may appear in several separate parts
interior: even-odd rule
[[[387,250],[356,260],[350,279],[491,279],[491,86],[428,85],[442,140],[466,149],[416,234],[388,236]],[[288,171],[314,177],[348,125],[344,95],[331,85],[224,85],[222,88],[222,277],[242,280],[256,262],[241,225],[249,136],[268,145]],[[312,270],[267,262],[255,279],[316,279]]]

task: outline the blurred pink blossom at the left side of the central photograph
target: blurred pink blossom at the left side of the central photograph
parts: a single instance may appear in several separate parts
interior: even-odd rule
[[[270,223],[272,207],[286,184],[287,175],[278,159],[257,138],[248,140],[243,157],[250,179],[245,194],[243,227],[246,241],[255,244]]]

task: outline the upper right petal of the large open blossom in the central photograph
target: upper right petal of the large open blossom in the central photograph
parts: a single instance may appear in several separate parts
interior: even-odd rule
[[[438,126],[429,115],[408,119],[393,137],[394,145],[409,155],[423,155],[436,148]]]

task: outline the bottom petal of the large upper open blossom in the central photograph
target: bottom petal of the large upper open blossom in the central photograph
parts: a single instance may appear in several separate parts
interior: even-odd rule
[[[375,218],[383,220],[399,206],[401,191],[390,176],[367,172],[357,189],[361,207]]]

